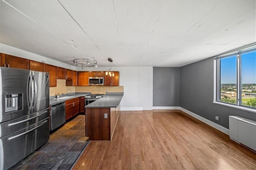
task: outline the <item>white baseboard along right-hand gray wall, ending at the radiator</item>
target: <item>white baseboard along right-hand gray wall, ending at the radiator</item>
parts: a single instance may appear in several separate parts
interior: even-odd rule
[[[208,119],[205,119],[204,117],[201,117],[201,116],[199,116],[199,115],[196,115],[195,113],[193,113],[193,112],[191,112],[191,111],[188,111],[187,109],[184,109],[184,108],[182,108],[182,107],[180,107],[180,110],[183,111],[184,113],[186,113],[186,114],[188,114],[188,115],[190,115],[190,116],[192,116],[192,117],[194,117],[194,118],[196,118],[196,119],[198,119],[198,120],[200,120],[200,121],[206,123],[207,125],[210,125],[211,127],[214,127],[214,128],[216,128],[216,129],[220,130],[221,132],[223,132],[223,133],[229,135],[229,130],[228,130],[227,128],[224,128],[224,127],[218,125],[217,123],[214,123],[214,122],[212,122],[212,121],[209,121]]]

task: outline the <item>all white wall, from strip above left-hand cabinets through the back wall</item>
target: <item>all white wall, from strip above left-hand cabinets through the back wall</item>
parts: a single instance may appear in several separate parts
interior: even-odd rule
[[[76,71],[106,71],[109,67],[74,67],[60,61],[30,53],[0,43],[0,52],[34,61],[44,60],[45,63],[73,69]],[[124,97],[120,103],[122,111],[152,110],[153,108],[153,67],[112,67],[112,71],[120,72],[119,85],[124,86]]]

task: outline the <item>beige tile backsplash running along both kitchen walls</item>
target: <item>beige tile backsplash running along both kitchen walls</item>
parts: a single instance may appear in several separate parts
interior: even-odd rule
[[[55,96],[58,93],[75,93],[75,92],[91,92],[92,94],[105,94],[108,92],[124,92],[124,86],[66,86],[66,80],[57,79],[57,87],[50,87],[50,96]]]

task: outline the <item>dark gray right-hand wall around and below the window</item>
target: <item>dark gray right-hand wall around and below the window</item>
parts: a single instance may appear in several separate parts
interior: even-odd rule
[[[228,128],[230,115],[256,121],[255,113],[212,103],[213,95],[213,57],[180,67],[180,107],[225,128]],[[216,121],[215,116],[218,116],[220,121]]]

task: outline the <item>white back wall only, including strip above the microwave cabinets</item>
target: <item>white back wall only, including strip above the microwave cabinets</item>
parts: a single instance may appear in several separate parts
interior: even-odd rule
[[[77,71],[106,71],[110,67],[78,67]],[[119,71],[119,85],[124,86],[122,111],[153,109],[153,67],[113,67]]]

